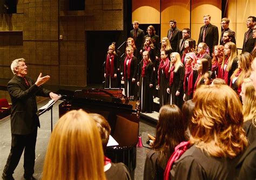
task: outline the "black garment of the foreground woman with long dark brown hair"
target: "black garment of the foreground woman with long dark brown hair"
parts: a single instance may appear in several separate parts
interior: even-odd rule
[[[145,167],[144,167],[144,180],[162,180],[164,179],[164,171],[169,159],[159,161],[159,153],[150,150],[147,153]]]

